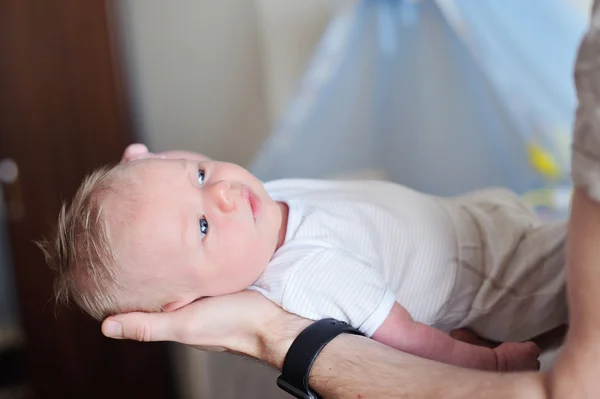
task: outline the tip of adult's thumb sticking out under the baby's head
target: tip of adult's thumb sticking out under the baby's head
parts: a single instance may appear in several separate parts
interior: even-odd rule
[[[140,342],[172,341],[169,313],[125,313],[106,318],[102,334],[114,339]]]

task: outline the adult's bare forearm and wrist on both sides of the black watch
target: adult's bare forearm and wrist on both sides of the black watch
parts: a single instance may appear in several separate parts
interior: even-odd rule
[[[294,338],[310,322],[287,316],[265,329],[258,358],[281,369]],[[270,330],[267,331],[267,330]],[[543,374],[463,369],[412,356],[375,340],[342,334],[317,357],[309,383],[325,398],[547,398]]]

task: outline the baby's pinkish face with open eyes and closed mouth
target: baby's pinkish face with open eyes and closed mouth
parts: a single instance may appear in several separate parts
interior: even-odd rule
[[[123,167],[131,192],[106,200],[120,268],[126,284],[156,288],[165,310],[247,288],[283,240],[285,205],[240,166],[149,158]]]

